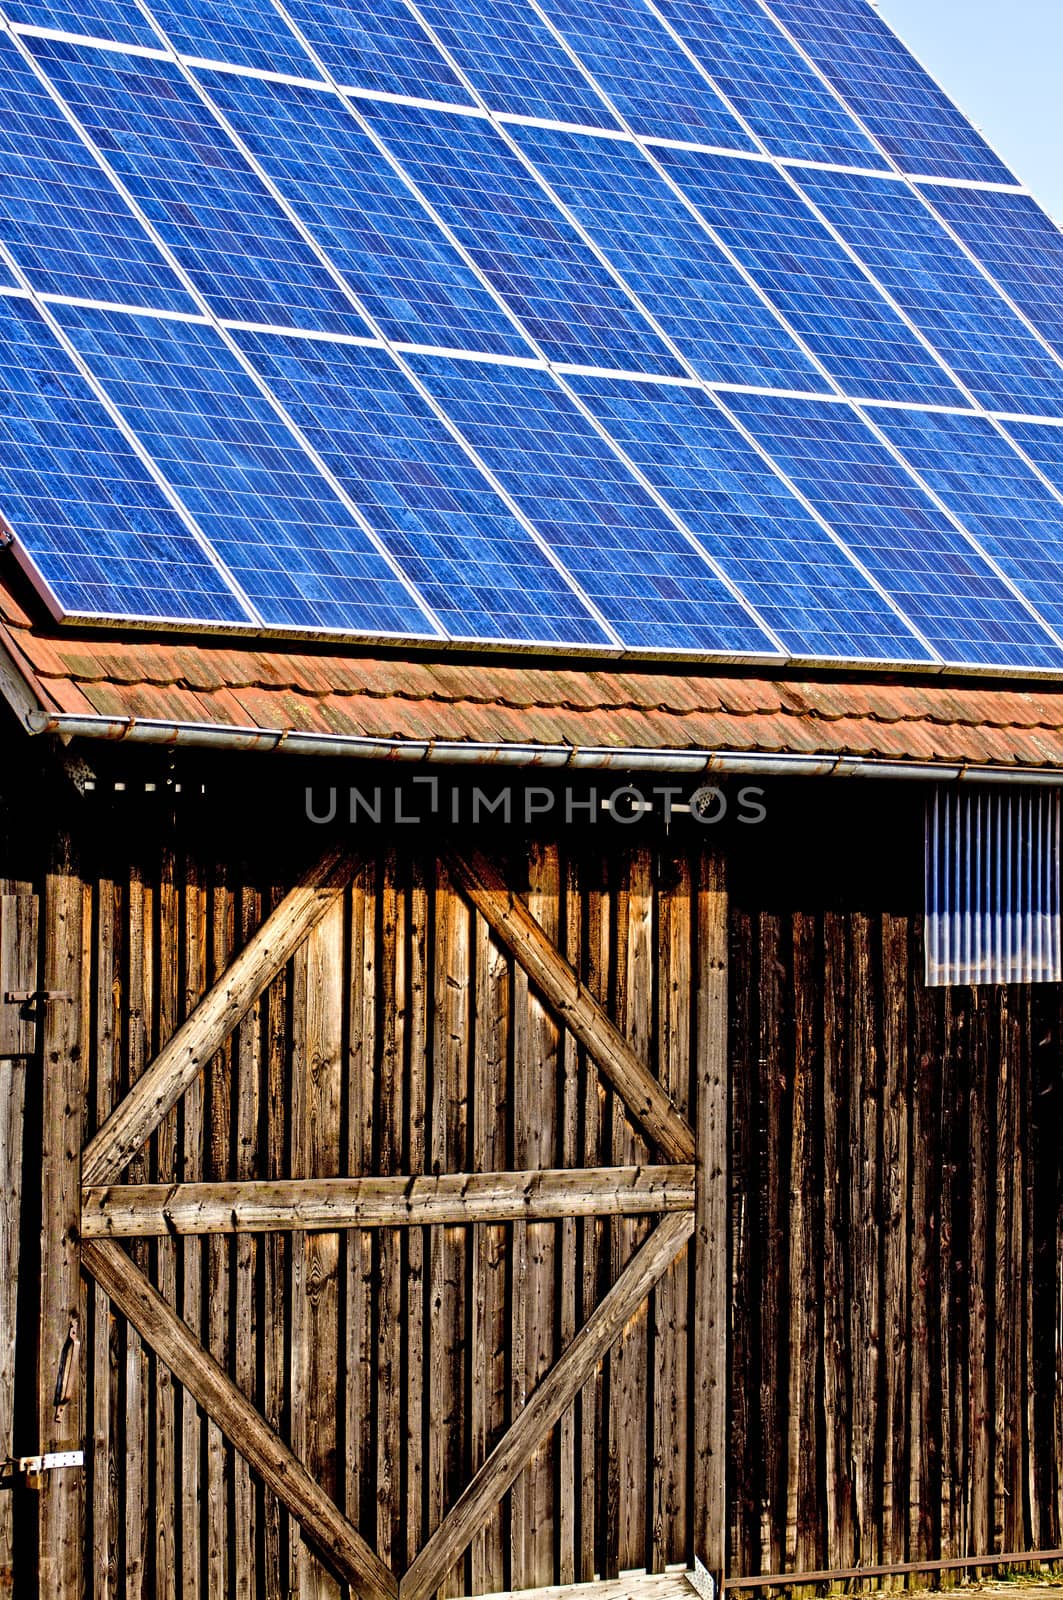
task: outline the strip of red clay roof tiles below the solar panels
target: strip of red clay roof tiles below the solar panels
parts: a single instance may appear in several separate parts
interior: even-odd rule
[[[493,654],[403,661],[341,646],[72,632],[32,614],[2,582],[0,685],[22,707],[29,693],[45,715],[271,736],[1063,768],[1063,685],[540,666]]]

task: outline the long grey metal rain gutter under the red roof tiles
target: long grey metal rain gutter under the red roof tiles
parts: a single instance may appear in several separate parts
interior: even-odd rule
[[[483,744],[469,739],[375,739],[363,734],[291,733],[280,728],[219,728],[215,723],[136,717],[78,717],[34,710],[30,733],[61,739],[107,739],[203,750],[331,755],[362,762],[440,766],[533,766],[570,771],[733,773],[749,778],[874,778],[919,782],[1063,784],[1063,766],[975,766],[964,762],[882,762],[864,755],[791,755],[744,750],[669,750],[637,746]]]

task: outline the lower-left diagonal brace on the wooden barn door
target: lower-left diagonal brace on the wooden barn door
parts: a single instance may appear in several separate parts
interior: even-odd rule
[[[120,1245],[85,1240],[82,1262],[178,1382],[299,1522],[320,1555],[362,1600],[394,1600],[399,1584],[357,1528],[314,1482],[232,1379],[152,1288]]]

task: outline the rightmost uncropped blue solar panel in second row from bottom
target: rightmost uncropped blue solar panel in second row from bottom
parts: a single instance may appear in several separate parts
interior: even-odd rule
[[[701,150],[661,149],[658,155],[848,394],[964,403],[956,384],[781,173]]]

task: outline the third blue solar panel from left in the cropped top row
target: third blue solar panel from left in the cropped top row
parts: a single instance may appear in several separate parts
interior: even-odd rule
[[[402,0],[291,0],[285,6],[341,83],[383,94],[469,104],[464,88]]]

